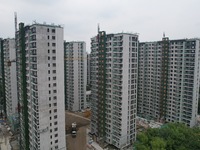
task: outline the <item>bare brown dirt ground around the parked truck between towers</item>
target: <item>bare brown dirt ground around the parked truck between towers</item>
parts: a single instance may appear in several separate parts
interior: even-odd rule
[[[86,150],[86,129],[90,126],[90,119],[84,117],[84,113],[65,112],[67,150]],[[71,136],[71,124],[76,122],[77,135]]]

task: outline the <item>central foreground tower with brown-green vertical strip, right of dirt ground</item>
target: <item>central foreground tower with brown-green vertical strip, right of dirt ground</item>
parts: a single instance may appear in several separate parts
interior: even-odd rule
[[[91,133],[117,148],[136,138],[136,34],[106,34],[91,38]]]

